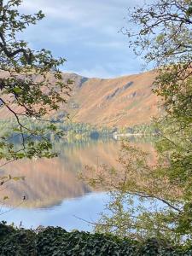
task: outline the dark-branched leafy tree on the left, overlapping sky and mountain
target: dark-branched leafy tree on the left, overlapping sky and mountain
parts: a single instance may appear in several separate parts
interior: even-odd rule
[[[71,84],[63,82],[59,70],[64,58],[55,59],[46,49],[30,49],[18,39],[27,26],[44,18],[42,11],[20,14],[21,3],[0,0],[0,102],[3,111],[15,119],[9,132],[0,138],[0,159],[8,161],[56,156],[48,133],[60,136],[61,132],[49,122],[49,113],[55,113],[67,102]]]

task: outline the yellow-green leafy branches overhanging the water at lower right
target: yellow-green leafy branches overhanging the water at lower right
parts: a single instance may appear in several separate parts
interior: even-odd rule
[[[119,169],[86,167],[83,178],[90,186],[108,191],[110,201],[96,224],[96,231],[142,241],[165,238],[172,243],[191,243],[189,190],[169,180],[167,163],[149,163],[148,154],[122,143]],[[163,175],[162,175],[163,173]]]

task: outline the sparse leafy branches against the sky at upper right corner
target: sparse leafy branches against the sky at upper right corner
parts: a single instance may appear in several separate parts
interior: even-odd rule
[[[137,55],[143,55],[145,61],[154,61],[157,67],[176,63],[188,63],[184,69],[190,67],[192,13],[189,10],[190,0],[155,0],[129,9],[130,26],[123,32],[130,39],[130,47]]]

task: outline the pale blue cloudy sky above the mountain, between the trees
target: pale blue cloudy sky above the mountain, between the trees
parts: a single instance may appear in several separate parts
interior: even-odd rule
[[[23,0],[21,11],[46,15],[24,37],[34,49],[50,49],[67,59],[64,72],[113,78],[140,73],[142,61],[119,30],[127,8],[143,0]]]

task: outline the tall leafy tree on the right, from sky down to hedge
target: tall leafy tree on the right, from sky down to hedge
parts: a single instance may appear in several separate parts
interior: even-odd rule
[[[107,206],[112,215],[102,215],[97,229],[138,239],[159,236],[191,242],[192,2],[157,0],[144,4],[129,10],[128,24],[133,32],[130,28],[123,32],[130,38],[130,46],[154,64],[153,90],[163,108],[162,116],[155,120],[159,161],[148,166],[143,153],[125,145],[128,159],[125,155],[119,160],[123,172],[104,166],[99,178],[90,179],[92,184],[108,185],[112,195]],[[108,182],[109,177],[113,183]]]

